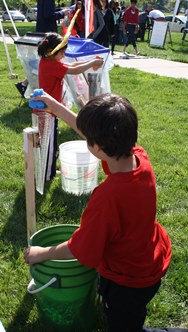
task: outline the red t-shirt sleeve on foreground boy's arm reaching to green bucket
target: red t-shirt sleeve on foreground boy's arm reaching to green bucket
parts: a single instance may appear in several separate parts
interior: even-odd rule
[[[111,205],[111,204],[110,204]],[[82,215],[81,226],[68,241],[69,249],[81,264],[97,268],[104,258],[105,248],[116,233],[117,224],[111,220],[109,210],[94,191]],[[112,213],[114,218],[114,213]]]

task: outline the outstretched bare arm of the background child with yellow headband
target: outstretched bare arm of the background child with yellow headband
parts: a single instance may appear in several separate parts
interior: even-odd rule
[[[96,58],[90,61],[78,62],[76,66],[69,66],[66,74],[77,75],[88,70],[91,67],[101,67],[103,65],[103,58]]]

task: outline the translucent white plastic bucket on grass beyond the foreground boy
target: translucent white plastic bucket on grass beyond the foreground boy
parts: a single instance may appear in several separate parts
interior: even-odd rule
[[[61,179],[64,191],[89,193],[98,183],[99,160],[90,153],[86,141],[70,141],[59,146]]]

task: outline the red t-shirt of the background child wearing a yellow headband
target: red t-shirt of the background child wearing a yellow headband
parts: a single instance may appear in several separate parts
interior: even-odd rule
[[[62,102],[63,78],[68,66],[61,61],[41,58],[39,62],[39,87],[60,103]]]

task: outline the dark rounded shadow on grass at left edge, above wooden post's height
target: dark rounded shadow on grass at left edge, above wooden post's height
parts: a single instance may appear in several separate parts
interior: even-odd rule
[[[14,108],[12,112],[3,114],[1,122],[16,133],[21,133],[24,128],[31,127],[31,109],[28,107],[28,100]]]

